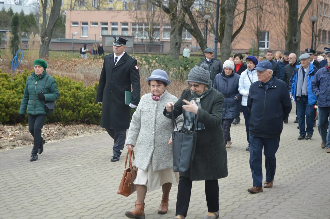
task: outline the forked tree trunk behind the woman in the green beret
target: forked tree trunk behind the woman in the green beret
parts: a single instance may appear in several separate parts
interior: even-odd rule
[[[55,23],[60,15],[61,10],[61,0],[53,0],[53,4],[51,7],[50,15],[49,15],[49,22],[47,24],[47,1],[45,0],[44,3],[42,2],[43,8],[43,23],[41,26],[41,46],[39,50],[39,56],[41,58],[46,58],[49,54],[49,42],[51,40],[51,36],[53,33],[53,29]]]

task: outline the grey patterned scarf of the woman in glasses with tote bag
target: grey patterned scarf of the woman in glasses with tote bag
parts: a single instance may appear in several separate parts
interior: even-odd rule
[[[193,100],[195,100],[198,108],[202,109],[202,106],[201,106],[201,99],[205,96],[207,96],[210,91],[212,89],[212,82],[210,80],[210,83],[208,85],[208,89],[207,91],[203,92],[202,94],[198,95],[196,94],[195,92],[193,91],[190,91],[191,95],[193,96],[193,98],[191,99],[190,103],[192,103]],[[194,119],[195,119],[195,113],[190,113],[188,111],[185,111],[185,120],[184,120],[184,128],[190,130],[194,124]],[[205,126],[203,123],[201,122],[198,122],[198,127],[197,127],[197,130],[201,130],[201,129],[205,129]]]

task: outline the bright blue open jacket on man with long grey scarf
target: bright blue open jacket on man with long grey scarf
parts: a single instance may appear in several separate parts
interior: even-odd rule
[[[292,76],[290,78],[289,90],[290,94],[294,97],[296,101],[296,92],[297,92],[297,80],[298,80],[298,69],[301,65],[296,66],[296,69],[293,71]],[[317,96],[312,91],[312,81],[316,70],[313,64],[309,64],[310,72],[307,75],[307,96],[308,96],[308,105],[314,105],[317,101]]]

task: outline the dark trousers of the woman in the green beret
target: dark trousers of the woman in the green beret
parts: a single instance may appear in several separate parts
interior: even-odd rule
[[[33,136],[32,153],[38,153],[41,142],[44,140],[41,137],[41,129],[44,126],[47,114],[45,115],[29,115],[29,132]]]

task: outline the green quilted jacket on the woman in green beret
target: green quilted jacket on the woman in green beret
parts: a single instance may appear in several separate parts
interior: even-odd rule
[[[45,70],[40,77],[36,80],[36,74],[31,73],[30,76],[26,79],[24,95],[22,102],[19,108],[19,114],[25,115],[44,115],[47,114],[44,106],[44,102],[38,98],[42,88],[44,87],[46,78],[49,76]],[[55,79],[52,76],[49,76],[47,83],[45,85],[43,94],[45,96],[44,101],[55,101],[60,96],[60,93],[57,89],[57,84]]]

